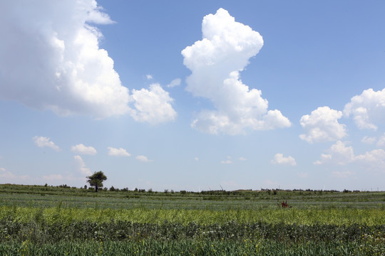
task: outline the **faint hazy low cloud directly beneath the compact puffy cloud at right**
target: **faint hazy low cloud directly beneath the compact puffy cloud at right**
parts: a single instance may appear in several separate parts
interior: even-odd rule
[[[333,144],[327,152],[321,154],[321,159],[314,164],[339,164],[346,165],[354,161],[354,151],[352,146],[346,146],[347,142],[338,141]]]

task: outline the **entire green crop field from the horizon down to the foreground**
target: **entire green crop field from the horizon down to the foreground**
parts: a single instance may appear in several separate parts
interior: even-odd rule
[[[385,255],[385,192],[6,184],[0,255]]]

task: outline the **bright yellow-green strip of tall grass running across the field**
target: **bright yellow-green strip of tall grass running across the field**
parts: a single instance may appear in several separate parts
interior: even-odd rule
[[[87,220],[101,223],[111,220],[124,220],[134,223],[163,223],[165,220],[175,223],[227,223],[235,220],[238,223],[284,223],[313,225],[314,223],[329,225],[385,225],[385,210],[363,209],[262,209],[262,210],[168,210],[168,209],[99,209],[99,208],[29,208],[16,206],[0,206],[0,219],[12,217],[19,222],[34,219],[44,220],[48,224],[57,221]]]

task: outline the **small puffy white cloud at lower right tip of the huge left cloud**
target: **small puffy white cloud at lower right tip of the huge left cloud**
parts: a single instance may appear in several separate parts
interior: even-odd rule
[[[150,90],[133,90],[132,98],[135,110],[130,114],[135,121],[159,124],[173,121],[177,116],[171,106],[173,98],[159,84],[150,85]]]

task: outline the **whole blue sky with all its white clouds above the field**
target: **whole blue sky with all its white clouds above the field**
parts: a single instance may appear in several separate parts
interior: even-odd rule
[[[385,1],[0,1],[0,183],[385,190]]]

